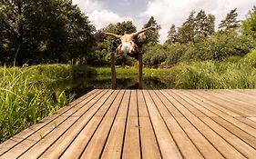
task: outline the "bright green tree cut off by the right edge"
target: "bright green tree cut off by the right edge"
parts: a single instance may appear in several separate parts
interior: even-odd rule
[[[256,6],[254,5],[248,14],[246,20],[242,22],[242,33],[244,35],[251,35],[256,39]]]

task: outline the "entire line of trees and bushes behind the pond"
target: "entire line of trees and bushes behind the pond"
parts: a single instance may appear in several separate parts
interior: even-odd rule
[[[155,25],[135,38],[148,66],[179,62],[223,60],[245,55],[255,48],[256,7],[246,19],[237,19],[232,9],[215,30],[215,16],[192,11],[179,27],[171,25],[168,38],[159,44],[161,29],[154,17],[144,27]],[[89,17],[71,0],[5,0],[0,2],[0,65],[86,64],[110,65],[110,53],[119,41],[102,34],[133,33],[131,21],[109,24],[96,31]],[[117,65],[136,65],[136,55],[118,55]]]

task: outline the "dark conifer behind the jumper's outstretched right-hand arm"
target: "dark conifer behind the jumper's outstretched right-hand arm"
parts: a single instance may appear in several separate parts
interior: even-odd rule
[[[155,30],[148,30],[144,34],[140,35],[140,42],[145,45],[148,44],[149,42],[152,44],[157,44],[159,43],[159,30],[161,29],[161,26],[158,25],[157,21],[155,20],[154,16],[151,16],[148,19],[148,23],[144,25],[143,28],[147,28],[149,26],[155,26]]]

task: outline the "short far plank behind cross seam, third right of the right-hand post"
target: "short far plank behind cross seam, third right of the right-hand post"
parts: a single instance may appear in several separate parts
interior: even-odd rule
[[[155,93],[159,96],[159,99],[162,101],[162,103],[165,104],[165,106],[169,110],[169,113],[172,116],[175,116],[175,117],[183,116],[182,114],[180,114],[179,110],[176,109],[176,107],[168,100],[168,98],[165,95],[163,95],[159,90],[155,91]]]

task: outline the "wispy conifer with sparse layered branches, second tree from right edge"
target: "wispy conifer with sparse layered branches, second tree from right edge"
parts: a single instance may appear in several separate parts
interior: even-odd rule
[[[237,20],[237,8],[230,10],[230,13],[224,20],[220,21],[219,29],[229,30],[240,26],[240,21]]]

